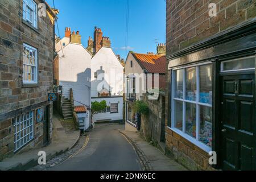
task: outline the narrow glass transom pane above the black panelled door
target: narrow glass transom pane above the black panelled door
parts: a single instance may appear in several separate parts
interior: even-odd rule
[[[255,57],[245,57],[244,59],[226,61],[222,64],[222,71],[255,68]]]

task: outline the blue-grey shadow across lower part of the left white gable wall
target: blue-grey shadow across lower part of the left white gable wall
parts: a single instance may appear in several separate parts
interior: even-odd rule
[[[67,73],[68,74],[68,73]],[[84,72],[77,74],[77,81],[60,80],[63,86],[63,96],[69,98],[69,90],[73,89],[74,104],[90,106],[90,68],[86,68]]]

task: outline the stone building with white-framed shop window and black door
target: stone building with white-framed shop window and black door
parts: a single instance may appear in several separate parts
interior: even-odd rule
[[[255,170],[256,1],[168,0],[166,10],[166,151],[189,169]]]

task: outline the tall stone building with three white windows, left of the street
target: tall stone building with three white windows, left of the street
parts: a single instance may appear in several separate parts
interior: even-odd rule
[[[51,142],[57,13],[45,1],[0,2],[0,161]]]

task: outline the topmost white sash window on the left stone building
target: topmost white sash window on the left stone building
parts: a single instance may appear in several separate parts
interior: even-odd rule
[[[27,17],[28,10],[30,10],[32,13],[32,20]],[[23,19],[30,23],[33,27],[38,28],[38,5],[35,1],[23,0]]]

